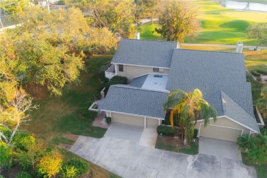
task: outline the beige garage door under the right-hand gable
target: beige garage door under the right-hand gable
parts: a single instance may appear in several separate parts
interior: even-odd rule
[[[226,140],[236,142],[238,137],[242,134],[242,129],[233,129],[228,127],[218,127],[216,125],[207,125],[204,127],[203,124],[200,126],[199,136],[205,138],[214,138],[218,140]]]

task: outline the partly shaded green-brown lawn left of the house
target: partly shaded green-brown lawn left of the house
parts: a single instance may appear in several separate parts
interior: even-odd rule
[[[86,60],[86,72],[81,73],[81,84],[73,86],[64,92],[62,97],[49,97],[42,93],[42,99],[34,101],[40,105],[38,110],[32,111],[31,120],[21,129],[31,133],[40,140],[44,147],[58,147],[60,143],[73,144],[73,141],[62,137],[63,133],[73,133],[83,136],[102,138],[106,129],[93,127],[93,118],[86,118],[79,113],[80,109],[89,107],[88,101],[99,97],[101,84],[98,79],[99,67],[110,62],[112,55],[96,55]],[[37,97],[39,98],[39,97]],[[60,149],[65,160],[77,157],[71,152]],[[94,177],[116,177],[107,170],[92,164]]]

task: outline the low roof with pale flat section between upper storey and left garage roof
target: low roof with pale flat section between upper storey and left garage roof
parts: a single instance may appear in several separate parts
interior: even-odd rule
[[[149,90],[167,91],[167,81],[168,74],[147,74],[135,77],[130,85]]]

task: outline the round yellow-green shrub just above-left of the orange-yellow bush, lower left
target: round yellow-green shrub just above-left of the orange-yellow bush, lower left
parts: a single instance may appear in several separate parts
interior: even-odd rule
[[[28,151],[35,146],[35,138],[25,132],[16,133],[13,142],[15,147],[21,151]]]

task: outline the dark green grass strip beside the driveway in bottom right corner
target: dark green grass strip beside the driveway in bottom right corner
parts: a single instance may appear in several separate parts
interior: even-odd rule
[[[243,163],[248,166],[254,166],[257,171],[257,177],[259,178],[265,178],[267,175],[267,164],[253,164],[251,160],[249,160],[249,157],[247,153],[242,153],[242,160]]]

